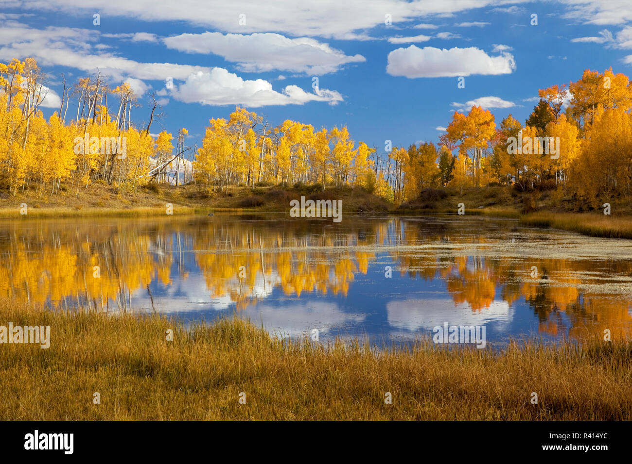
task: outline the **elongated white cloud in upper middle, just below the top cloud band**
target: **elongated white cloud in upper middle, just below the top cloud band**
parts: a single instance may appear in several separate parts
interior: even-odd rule
[[[335,73],[344,64],[364,62],[362,55],[348,56],[318,40],[288,39],[275,33],[185,33],[162,39],[170,49],[188,53],[216,54],[236,62],[240,71],[292,71],[306,74]]]

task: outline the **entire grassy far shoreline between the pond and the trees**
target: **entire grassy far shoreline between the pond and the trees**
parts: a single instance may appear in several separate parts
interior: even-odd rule
[[[85,191],[83,191],[85,190]],[[8,201],[0,206],[0,220],[29,218],[83,218],[83,217],[158,217],[167,214],[167,204],[173,205],[173,215],[209,213],[288,213],[289,199],[341,198],[343,215],[372,213],[379,215],[419,216],[456,214],[458,203],[464,203],[466,215],[517,219],[522,225],[568,230],[593,237],[632,239],[632,211],[618,205],[617,214],[603,215],[600,211],[573,213],[558,211],[547,202],[538,205],[537,211],[524,214],[522,199],[513,198],[511,191],[499,187],[470,189],[461,194],[457,190],[424,191],[413,203],[396,208],[384,199],[362,189],[325,191],[314,186],[298,187],[246,187],[235,188],[227,194],[209,194],[196,186],[164,186],[139,189],[136,193],[121,193],[104,185],[91,186],[79,193],[64,193],[42,197],[33,192],[15,198],[0,196]],[[0,192],[1,193],[1,192]],[[26,203],[27,214],[20,213]],[[474,207],[472,207],[474,206]],[[613,209],[614,211],[614,209]]]

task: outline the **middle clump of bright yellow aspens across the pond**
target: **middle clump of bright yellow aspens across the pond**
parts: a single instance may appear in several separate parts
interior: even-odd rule
[[[237,107],[228,120],[211,119],[195,158],[196,178],[209,189],[270,184],[364,186],[375,189],[375,150],[358,146],[346,127],[315,131],[286,120],[276,128],[255,112]],[[372,169],[373,168],[373,169]],[[379,186],[384,185],[377,182]]]

